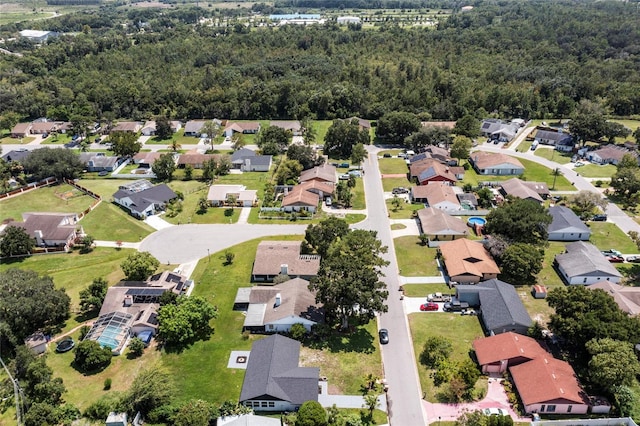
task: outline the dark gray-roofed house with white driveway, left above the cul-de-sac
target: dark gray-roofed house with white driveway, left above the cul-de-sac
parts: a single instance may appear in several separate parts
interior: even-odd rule
[[[138,219],[143,219],[164,210],[166,205],[178,196],[165,184],[139,190],[141,186],[146,185],[138,184],[139,186],[135,186],[137,182],[134,183],[132,189],[119,189],[113,194],[113,201],[127,209],[132,216]],[[146,182],[148,183],[148,181]]]

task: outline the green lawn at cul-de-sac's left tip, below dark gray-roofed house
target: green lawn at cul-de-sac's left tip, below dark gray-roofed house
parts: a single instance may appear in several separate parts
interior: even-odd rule
[[[84,231],[96,240],[139,242],[154,229],[122,208],[102,201],[81,221]]]

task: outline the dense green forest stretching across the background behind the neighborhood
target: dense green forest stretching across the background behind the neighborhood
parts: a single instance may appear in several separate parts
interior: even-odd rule
[[[194,26],[192,8],[72,14],[41,25],[77,35],[0,57],[0,114],[569,117],[580,100],[602,98],[626,116],[640,113],[635,12],[614,2],[480,4],[436,29],[377,31]]]

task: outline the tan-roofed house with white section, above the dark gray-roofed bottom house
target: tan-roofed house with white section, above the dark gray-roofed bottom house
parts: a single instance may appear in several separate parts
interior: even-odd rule
[[[238,289],[234,309],[247,306],[242,331],[287,333],[294,324],[307,331],[324,321],[322,305],[309,291],[309,281],[294,278],[278,285]]]

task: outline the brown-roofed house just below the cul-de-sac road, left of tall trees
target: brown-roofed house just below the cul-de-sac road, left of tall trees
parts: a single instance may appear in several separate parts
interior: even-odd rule
[[[251,271],[252,281],[273,281],[277,275],[310,280],[318,275],[320,256],[301,254],[301,241],[261,241]]]

